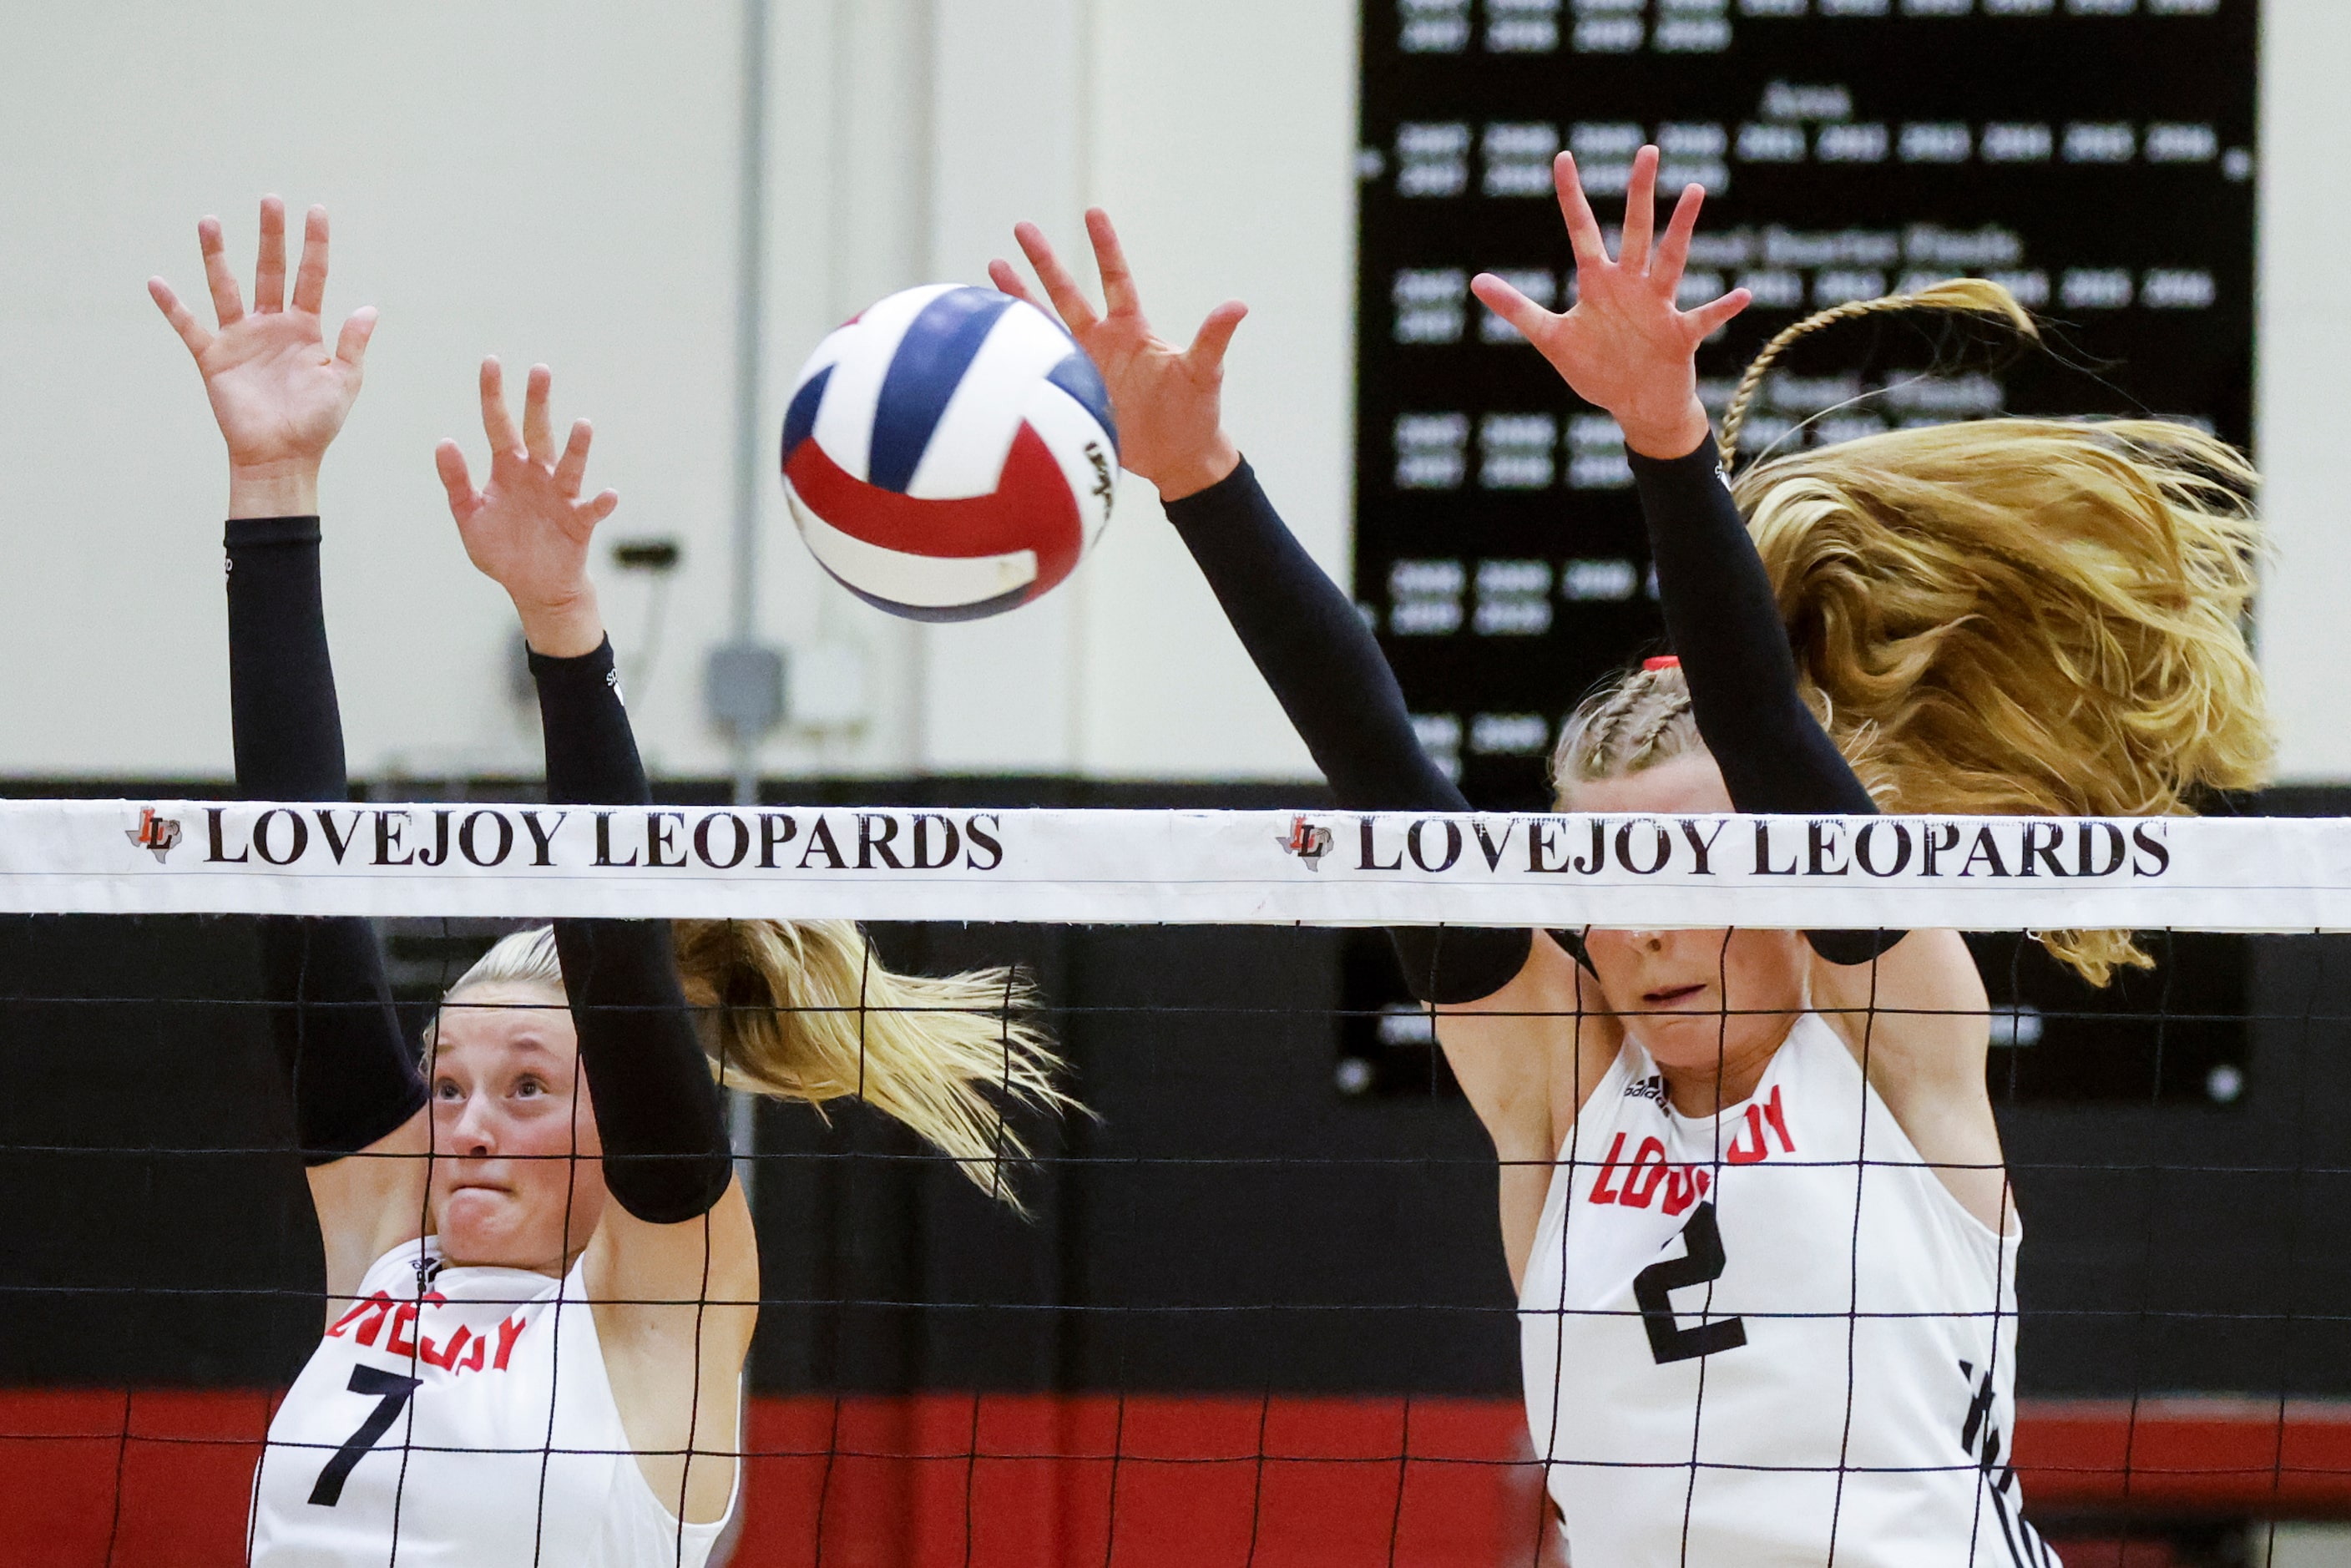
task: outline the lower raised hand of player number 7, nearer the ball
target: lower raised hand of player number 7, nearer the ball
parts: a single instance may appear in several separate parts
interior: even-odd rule
[[[588,538],[621,505],[621,494],[607,489],[590,501],[578,498],[595,430],[585,418],[574,421],[571,440],[557,456],[548,421],[550,386],[555,374],[534,364],[517,430],[505,407],[505,371],[496,360],[482,360],[489,480],[482,489],[473,487],[465,454],[451,440],[435,447],[433,463],[449,491],[449,515],[465,555],[515,602],[524,639],[552,658],[578,658],[604,642],[595,583],[588,581]]]

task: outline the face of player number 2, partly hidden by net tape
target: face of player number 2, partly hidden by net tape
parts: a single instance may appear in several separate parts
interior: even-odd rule
[[[1690,816],[1730,811],[1730,790],[1714,757],[1690,752],[1625,778],[1578,783],[1563,802],[1573,811]],[[1799,931],[1587,931],[1585,952],[1601,997],[1657,1060],[1667,1081],[1704,1088],[1676,1093],[1683,1112],[1712,1114],[1714,1081],[1723,1098],[1744,1098],[1742,1084],[1787,1039],[1803,1011],[1810,969]]]

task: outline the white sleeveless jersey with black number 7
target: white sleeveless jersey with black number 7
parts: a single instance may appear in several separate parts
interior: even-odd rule
[[[581,1267],[447,1267],[426,1237],[367,1269],[277,1406],[252,1561],[703,1568],[722,1528],[637,1469]]]

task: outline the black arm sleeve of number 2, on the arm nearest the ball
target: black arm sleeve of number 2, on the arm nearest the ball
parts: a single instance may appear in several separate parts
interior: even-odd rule
[[[1364,616],[1281,524],[1246,461],[1166,512],[1340,806],[1469,809],[1420,750]],[[1526,931],[1444,926],[1392,926],[1389,938],[1413,994],[1444,1004],[1509,985],[1533,943]]]

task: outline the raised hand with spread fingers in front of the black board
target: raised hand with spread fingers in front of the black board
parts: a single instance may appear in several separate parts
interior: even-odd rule
[[[1665,237],[1650,249],[1657,223],[1657,148],[1632,160],[1625,190],[1625,240],[1615,261],[1601,226],[1575,179],[1575,158],[1552,165],[1559,209],[1575,247],[1575,308],[1554,315],[1493,273],[1479,273],[1469,289],[1505,322],[1542,350],[1568,388],[1608,409],[1625,428],[1625,444],[1650,458],[1679,458],[1707,440],[1707,409],[1697,402],[1697,346],[1716,327],[1747,308],[1747,289],[1733,289],[1697,310],[1679,310],[1674,292],[1690,261],[1690,233],[1707,193],[1686,186]]]

